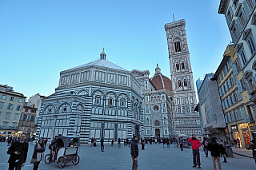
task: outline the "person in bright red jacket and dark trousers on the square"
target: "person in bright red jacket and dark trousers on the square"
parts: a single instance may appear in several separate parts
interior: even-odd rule
[[[201,142],[195,137],[193,134],[192,137],[188,140],[188,142],[191,142],[192,145],[192,151],[193,151],[193,168],[196,168],[198,165],[198,168],[201,168],[200,163],[200,153],[199,153],[199,147],[201,146]]]

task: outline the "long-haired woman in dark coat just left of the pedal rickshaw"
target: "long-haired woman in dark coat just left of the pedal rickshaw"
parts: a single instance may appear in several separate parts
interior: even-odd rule
[[[34,153],[32,158],[36,158],[37,161],[34,163],[34,168],[33,170],[38,170],[38,166],[40,164],[40,161],[43,160],[44,158],[44,153],[46,148],[45,148],[45,144],[43,142],[43,139],[40,138],[38,140],[38,143],[34,145]]]

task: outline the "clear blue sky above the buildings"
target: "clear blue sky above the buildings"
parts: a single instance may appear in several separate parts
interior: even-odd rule
[[[158,63],[170,77],[166,23],[186,20],[194,83],[215,73],[230,33],[220,0],[0,0],[0,84],[49,96],[63,70],[99,59],[124,69]],[[173,18],[174,14],[174,18]]]

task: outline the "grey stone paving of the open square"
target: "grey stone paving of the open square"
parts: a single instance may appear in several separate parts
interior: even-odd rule
[[[0,159],[0,169],[8,169],[9,155],[7,152],[7,143],[0,142],[0,151],[2,156]],[[50,152],[48,146],[46,146],[45,155]],[[30,144],[28,158],[26,165],[22,170],[33,169],[30,164],[30,159],[34,150],[34,144]],[[211,156],[206,157],[204,152],[200,152],[201,167],[202,169],[214,169]],[[110,145],[105,145],[105,152],[100,151],[100,145],[97,147],[90,147],[90,145],[82,145],[80,147],[80,163],[74,165],[67,163],[63,169],[103,169],[103,170],[129,170],[131,169],[132,160],[130,157],[130,148],[123,146],[118,148],[118,145],[114,145],[110,148]],[[198,169],[192,168],[192,150],[191,148],[184,148],[184,151],[180,151],[179,148],[170,145],[170,148],[162,148],[162,144],[146,144],[146,150],[141,150],[139,144],[139,156],[138,156],[138,169],[139,170],[162,170],[162,169]],[[223,160],[223,158],[221,158]],[[234,155],[234,158],[228,158],[228,163],[222,163],[222,169],[224,170],[236,170],[236,169],[256,169],[254,159]],[[45,164],[41,162],[39,164],[40,170],[59,169],[57,163]]]

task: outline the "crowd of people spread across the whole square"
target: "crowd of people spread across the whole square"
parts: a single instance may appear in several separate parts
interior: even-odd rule
[[[61,136],[61,135],[59,135]],[[27,157],[27,152],[29,148],[28,142],[30,139],[26,137],[25,133],[22,133],[19,137],[9,137],[9,138],[1,138],[2,142],[7,141],[8,148],[7,154],[10,154],[10,159],[8,160],[9,163],[9,169],[16,169],[20,170],[25,162]],[[123,140],[124,146],[130,147],[130,154],[133,161],[132,169],[138,168],[138,136],[134,135],[131,140],[128,138],[126,140]],[[44,159],[44,152],[46,149],[46,144],[48,140],[43,140],[40,138],[38,142],[34,145],[34,153],[32,155],[32,159],[30,163],[34,164],[34,170],[38,169],[38,166],[40,162]],[[118,138],[118,148],[121,147],[121,139]],[[188,146],[192,146],[192,155],[193,155],[193,168],[201,168],[201,162],[200,162],[200,152],[199,148],[202,146],[203,152],[206,157],[208,157],[208,153],[210,151],[210,156],[212,158],[214,169],[217,169],[216,161],[218,163],[218,169],[222,169],[222,163],[227,163],[226,160],[226,146],[228,144],[226,141],[218,140],[216,137],[206,138],[203,137],[203,140],[197,139],[195,135],[193,134],[192,137],[189,139],[183,139],[182,137],[179,138],[142,138],[140,140],[140,143],[142,144],[142,150],[145,150],[146,144],[162,144],[163,148],[170,148],[170,144],[174,144],[174,146],[180,146],[181,151],[183,151],[184,144],[186,143]],[[101,151],[104,152],[104,137],[100,140],[101,144]],[[54,140],[51,141],[51,144],[49,145],[50,149],[53,149],[54,152],[58,152],[58,148],[63,147],[63,141],[58,137],[55,136]],[[69,146],[76,146],[77,141],[74,141],[73,139],[70,140]],[[97,140],[92,138],[91,139],[91,146],[96,147],[97,146]],[[114,147],[114,139],[111,140],[110,147]],[[250,146],[246,147],[246,149],[252,149],[253,150],[253,157],[256,164],[256,144],[254,145],[254,140],[250,140]],[[56,155],[54,157],[54,160],[56,160]],[[221,157],[223,157],[223,161],[221,163]]]

